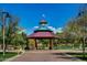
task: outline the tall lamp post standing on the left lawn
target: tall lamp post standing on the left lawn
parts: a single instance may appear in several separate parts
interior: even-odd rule
[[[3,56],[6,54],[6,20],[10,18],[8,12],[2,12],[2,42],[3,42]]]

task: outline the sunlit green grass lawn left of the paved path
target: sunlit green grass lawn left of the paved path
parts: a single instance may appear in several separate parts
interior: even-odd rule
[[[15,53],[15,52],[6,52],[6,55],[3,56],[2,52],[0,52],[0,62],[4,61],[7,58],[13,57],[15,55],[18,55],[18,53]]]

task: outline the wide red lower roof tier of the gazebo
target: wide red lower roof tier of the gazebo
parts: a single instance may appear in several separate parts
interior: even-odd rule
[[[53,32],[35,32],[29,35],[28,37],[54,37]]]

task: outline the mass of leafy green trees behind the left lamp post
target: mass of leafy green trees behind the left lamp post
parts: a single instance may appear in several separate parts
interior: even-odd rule
[[[20,28],[21,29],[21,28]],[[21,32],[19,29],[19,18],[10,14],[10,18],[6,21],[6,47],[8,45],[19,46],[23,48],[24,44],[26,43],[26,35]],[[0,14],[0,43],[2,43],[2,15]]]

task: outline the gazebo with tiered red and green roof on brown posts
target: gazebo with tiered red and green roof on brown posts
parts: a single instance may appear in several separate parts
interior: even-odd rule
[[[53,39],[55,37],[54,32],[48,29],[47,22],[43,19],[40,21],[40,26],[34,30],[32,34],[28,36],[28,39],[33,39],[35,41],[35,48],[37,50],[37,41],[42,39],[48,39],[48,48],[53,48]]]

